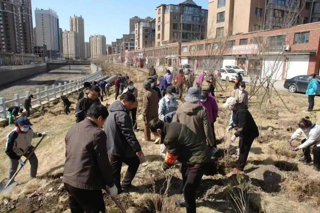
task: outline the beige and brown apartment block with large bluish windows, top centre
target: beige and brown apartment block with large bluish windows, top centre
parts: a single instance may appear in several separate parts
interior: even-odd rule
[[[155,46],[204,39],[207,9],[192,0],[161,4],[155,9]]]

